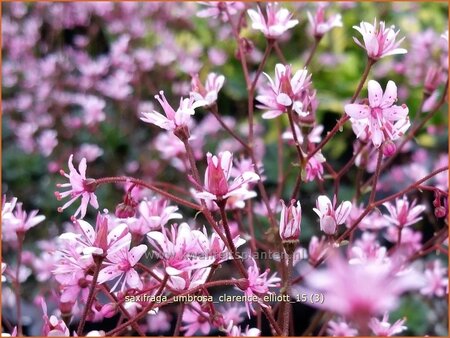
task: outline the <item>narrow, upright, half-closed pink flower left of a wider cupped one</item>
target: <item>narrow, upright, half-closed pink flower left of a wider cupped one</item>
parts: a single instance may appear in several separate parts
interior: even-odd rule
[[[286,207],[283,200],[281,200],[281,204],[281,240],[298,241],[298,237],[300,236],[300,225],[302,222],[302,206],[300,205],[300,201],[295,203],[295,200],[292,200],[289,207]]]

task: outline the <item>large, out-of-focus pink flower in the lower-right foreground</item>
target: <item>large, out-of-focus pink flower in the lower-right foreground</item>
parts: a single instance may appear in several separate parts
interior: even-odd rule
[[[394,268],[377,262],[351,265],[336,253],[330,255],[327,269],[307,274],[306,283],[324,295],[317,307],[365,326],[370,318],[394,309],[402,293],[423,285],[417,272],[398,273]]]

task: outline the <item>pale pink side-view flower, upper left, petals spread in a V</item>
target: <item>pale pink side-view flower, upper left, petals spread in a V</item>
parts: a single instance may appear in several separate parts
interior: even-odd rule
[[[164,92],[160,91],[159,94],[155,95],[155,98],[161,104],[166,116],[158,113],[154,110],[151,113],[142,113],[141,120],[154,124],[162,129],[174,131],[178,127],[188,127],[191,116],[195,114],[195,109],[204,105],[204,101],[194,102],[194,98],[191,96],[189,99],[180,99],[180,106],[175,111],[172,106],[167,102]]]

